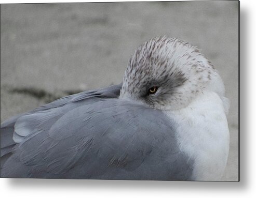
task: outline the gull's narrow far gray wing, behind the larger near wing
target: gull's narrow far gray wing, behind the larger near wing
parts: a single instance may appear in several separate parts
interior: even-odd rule
[[[103,89],[90,90],[70,96],[66,96],[55,100],[51,103],[45,104],[32,111],[19,114],[5,120],[1,124],[1,167],[4,161],[10,155],[12,148],[16,143],[21,142],[28,133],[34,133],[38,130],[47,131],[51,125],[58,120],[66,112],[69,112],[78,105],[90,104],[97,101],[104,100],[106,98],[118,98],[120,88],[122,84],[113,85]],[[22,123],[29,123],[32,130],[19,130],[22,133],[16,133],[15,125],[20,123],[19,127],[22,127]],[[47,127],[45,127],[48,125]],[[42,127],[44,128],[42,128]]]

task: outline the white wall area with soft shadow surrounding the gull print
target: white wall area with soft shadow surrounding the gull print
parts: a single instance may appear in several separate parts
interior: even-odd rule
[[[86,1],[7,1],[49,3]],[[107,1],[92,1],[107,2]],[[112,1],[115,2],[115,1]],[[241,0],[240,20],[240,182],[0,179],[2,197],[254,197],[256,194],[255,15],[256,1]],[[254,36],[253,36],[254,35]],[[3,49],[1,49],[3,50]]]

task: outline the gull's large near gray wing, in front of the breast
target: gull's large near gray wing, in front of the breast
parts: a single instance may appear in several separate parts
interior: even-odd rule
[[[28,135],[1,176],[191,179],[193,161],[180,153],[176,126],[163,113],[120,99],[73,107],[54,119],[48,119],[54,112],[43,111],[34,124],[18,119],[16,132]]]

